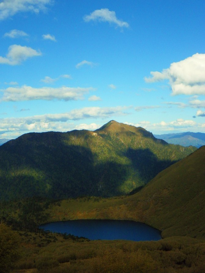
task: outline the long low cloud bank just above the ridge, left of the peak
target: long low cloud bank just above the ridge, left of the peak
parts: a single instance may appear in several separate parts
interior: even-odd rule
[[[86,118],[110,118],[113,115],[126,115],[125,110],[129,107],[85,107],[75,109],[67,113],[35,115],[24,118],[0,118],[1,137],[14,137],[27,132],[45,131],[69,131],[73,129],[97,129],[100,126],[95,123],[80,124],[78,126],[72,121]]]

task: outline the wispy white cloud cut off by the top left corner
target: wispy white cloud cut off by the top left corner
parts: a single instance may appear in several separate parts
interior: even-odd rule
[[[35,12],[46,10],[53,0],[2,0],[0,2],[0,20],[5,20],[19,12]]]

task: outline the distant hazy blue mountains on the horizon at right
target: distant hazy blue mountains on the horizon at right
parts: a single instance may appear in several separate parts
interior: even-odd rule
[[[179,144],[182,146],[195,146],[197,148],[205,145],[205,133],[173,133],[173,134],[163,134],[154,135],[154,137],[163,139],[171,144]]]

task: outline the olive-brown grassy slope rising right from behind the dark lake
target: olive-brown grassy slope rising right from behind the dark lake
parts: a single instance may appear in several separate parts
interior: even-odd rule
[[[163,237],[205,238],[204,162],[205,146],[163,170],[134,195],[63,200],[48,210],[49,221],[130,219],[162,230]]]

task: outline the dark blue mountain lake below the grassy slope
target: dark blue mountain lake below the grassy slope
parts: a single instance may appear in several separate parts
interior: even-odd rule
[[[52,232],[67,233],[90,240],[160,240],[160,231],[146,224],[127,220],[69,220],[39,226]]]

